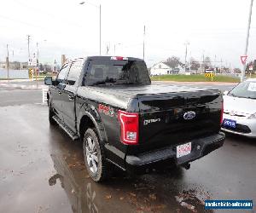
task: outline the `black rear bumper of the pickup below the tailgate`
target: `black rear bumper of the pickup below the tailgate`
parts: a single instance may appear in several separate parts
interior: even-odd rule
[[[211,153],[213,150],[222,147],[224,144],[225,135],[222,132],[218,134],[195,139],[189,141],[192,144],[192,150],[189,155],[177,158],[176,146],[165,147],[160,150],[142,153],[137,156],[127,155],[125,158],[126,170],[142,170],[154,168],[156,165],[170,165],[170,162],[176,165],[188,164],[198,158]]]

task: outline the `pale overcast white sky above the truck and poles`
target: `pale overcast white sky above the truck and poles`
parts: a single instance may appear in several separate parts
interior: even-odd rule
[[[82,1],[82,0],[81,0]],[[148,66],[177,55],[223,60],[240,67],[244,54],[250,0],[1,0],[0,60],[61,60],[61,54],[79,57],[99,54],[99,9],[102,4],[102,54],[143,58],[143,26],[146,26],[145,60]],[[216,56],[215,56],[216,55]],[[256,59],[256,3],[248,47],[248,60]],[[219,63],[218,63],[219,65]]]

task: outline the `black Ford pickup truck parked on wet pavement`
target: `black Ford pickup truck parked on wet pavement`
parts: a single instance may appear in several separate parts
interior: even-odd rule
[[[81,139],[90,177],[115,165],[137,172],[183,165],[223,146],[218,89],[151,84],[143,60],[91,56],[62,66],[49,85],[49,123]]]

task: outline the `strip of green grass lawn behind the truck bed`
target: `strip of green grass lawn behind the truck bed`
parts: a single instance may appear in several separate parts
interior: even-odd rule
[[[177,81],[177,82],[240,82],[240,78],[218,75],[206,78],[204,75],[161,75],[151,78],[153,81]]]

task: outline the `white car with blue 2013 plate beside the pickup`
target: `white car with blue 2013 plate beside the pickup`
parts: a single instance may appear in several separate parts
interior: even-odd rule
[[[224,92],[222,130],[256,138],[256,78]]]

